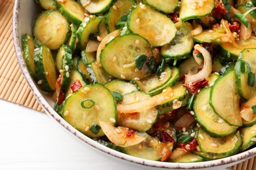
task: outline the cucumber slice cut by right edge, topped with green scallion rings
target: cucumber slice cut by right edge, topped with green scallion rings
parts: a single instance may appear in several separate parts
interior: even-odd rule
[[[242,61],[245,61],[251,67],[251,73],[256,73],[256,62],[255,62],[256,48],[245,48],[241,53],[238,61],[236,62],[236,86],[238,87],[238,93],[240,97],[244,99],[250,99],[256,93],[256,78],[254,85],[248,85],[248,74],[241,72]]]

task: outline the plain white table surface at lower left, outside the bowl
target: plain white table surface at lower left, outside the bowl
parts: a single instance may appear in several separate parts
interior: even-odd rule
[[[1,99],[0,108],[0,169],[153,169],[79,142],[47,114]]]

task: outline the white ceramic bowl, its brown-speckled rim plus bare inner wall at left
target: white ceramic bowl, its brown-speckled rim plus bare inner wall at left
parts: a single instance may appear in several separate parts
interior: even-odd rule
[[[63,118],[61,118],[53,110],[53,104],[54,104],[53,101],[51,101],[50,96],[47,96],[47,93],[42,92],[38,88],[38,86],[35,84],[35,82],[32,79],[32,76],[30,76],[28,68],[26,67],[26,63],[22,57],[22,48],[21,48],[20,39],[24,33],[32,33],[33,21],[35,19],[35,16],[37,16],[38,11],[39,9],[35,4],[35,1],[33,0],[30,0],[30,1],[16,0],[15,1],[14,11],[13,11],[13,39],[14,39],[14,47],[16,50],[16,56],[18,59],[18,63],[20,65],[20,69],[22,69],[22,73],[26,78],[32,92],[34,93],[35,97],[37,98],[37,101],[39,101],[41,107],[43,107],[45,112],[47,112],[49,116],[51,116],[54,120],[56,120],[57,124],[60,124],[64,128],[66,128],[66,131],[73,133],[74,137],[82,141],[85,145],[89,144],[95,147],[96,149],[101,150],[102,152],[106,152],[111,156],[115,156],[123,160],[131,161],[133,163],[137,163],[140,165],[146,165],[150,167],[159,167],[163,169],[165,168],[167,169],[223,168],[223,167],[229,167],[236,163],[240,163],[241,161],[244,161],[256,155],[256,147],[255,147],[245,152],[242,152],[240,154],[230,156],[228,158],[212,160],[212,161],[203,161],[198,163],[169,163],[169,162],[161,162],[161,161],[150,161],[150,160],[135,158],[127,154],[122,154],[120,152],[117,152],[116,150],[112,150],[110,148],[102,146],[101,144],[98,144],[92,139],[90,139],[89,137],[83,135],[82,133],[77,131],[77,129],[70,126],[70,124],[68,124]],[[99,152],[99,154],[101,153]],[[116,161],[116,159],[113,159],[113,161]]]

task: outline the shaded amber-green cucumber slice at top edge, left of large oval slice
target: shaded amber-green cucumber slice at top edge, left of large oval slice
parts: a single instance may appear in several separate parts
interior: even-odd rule
[[[111,33],[116,30],[117,22],[121,22],[121,17],[126,16],[135,5],[135,0],[117,0],[106,16],[106,25]]]

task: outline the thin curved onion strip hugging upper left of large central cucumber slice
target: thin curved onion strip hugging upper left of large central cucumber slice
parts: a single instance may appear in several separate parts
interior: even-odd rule
[[[97,53],[96,53],[96,63],[98,66],[100,66],[101,50],[103,50],[103,48],[105,47],[106,44],[108,44],[108,42],[112,41],[112,39],[114,39],[115,37],[118,37],[120,35],[120,33],[121,33],[121,31],[119,29],[117,29],[116,31],[113,31],[112,33],[109,33],[108,35],[106,35],[106,37],[104,37],[104,39],[102,39],[102,41],[98,45],[98,49],[97,49]]]

